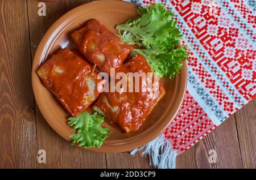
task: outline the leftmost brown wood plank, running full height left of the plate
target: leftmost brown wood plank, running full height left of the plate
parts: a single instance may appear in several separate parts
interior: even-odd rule
[[[0,168],[37,168],[27,3],[0,7]]]

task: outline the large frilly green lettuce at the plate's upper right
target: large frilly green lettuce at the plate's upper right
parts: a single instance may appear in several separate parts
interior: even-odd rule
[[[178,47],[182,40],[174,15],[161,3],[138,8],[138,18],[117,25],[119,37],[127,44],[138,45],[135,53],[144,55],[158,76],[169,78],[180,71],[183,59],[188,59],[185,46]]]

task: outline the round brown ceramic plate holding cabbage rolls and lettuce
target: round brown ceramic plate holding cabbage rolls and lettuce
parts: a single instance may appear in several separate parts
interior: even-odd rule
[[[65,140],[73,132],[68,126],[68,113],[59,104],[55,97],[43,86],[36,71],[58,49],[66,46],[73,47],[69,35],[72,31],[89,19],[98,19],[110,31],[116,33],[115,25],[125,23],[129,18],[137,16],[137,5],[123,1],[96,1],[74,8],[57,20],[48,29],[40,42],[32,66],[32,85],[36,102],[48,124]],[[187,66],[184,62],[179,74],[172,80],[162,78],[167,94],[152,110],[144,125],[139,131],[123,134],[109,125],[103,126],[113,131],[100,148],[90,148],[97,152],[124,152],[144,145],[163,132],[174,119],[183,101],[187,85]]]

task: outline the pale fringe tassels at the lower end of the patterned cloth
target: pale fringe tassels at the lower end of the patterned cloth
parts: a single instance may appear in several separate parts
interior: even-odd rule
[[[175,169],[176,168],[176,156],[177,153],[172,149],[172,145],[163,134],[158,136],[158,138],[152,140],[151,142],[134,149],[130,152],[134,155],[136,152],[144,149],[142,156],[149,155],[150,165],[154,165],[159,169]]]

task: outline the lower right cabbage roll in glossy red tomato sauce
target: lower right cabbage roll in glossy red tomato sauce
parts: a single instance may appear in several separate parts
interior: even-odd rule
[[[141,54],[135,55],[125,63],[128,72],[152,72],[146,59]],[[154,76],[157,78],[156,76]],[[127,76],[129,79],[129,76]],[[148,79],[146,79],[148,80]],[[158,82],[158,83],[156,83]],[[104,115],[114,126],[121,127],[126,133],[137,131],[150,114],[154,106],[166,94],[163,84],[152,79],[152,88],[142,92],[142,81],[139,84],[139,92],[104,92],[97,100],[93,109]],[[129,86],[129,80],[127,83]],[[153,89],[158,87],[158,95],[152,96]]]

